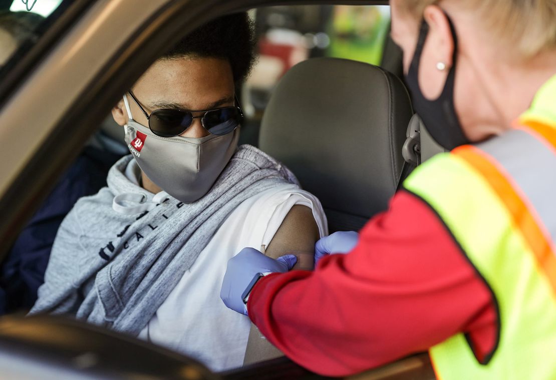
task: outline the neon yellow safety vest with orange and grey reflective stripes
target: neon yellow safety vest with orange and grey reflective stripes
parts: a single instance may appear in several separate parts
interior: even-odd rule
[[[464,333],[430,348],[438,378],[556,379],[556,76],[515,128],[434,157],[404,188],[439,214],[498,314],[482,362]]]

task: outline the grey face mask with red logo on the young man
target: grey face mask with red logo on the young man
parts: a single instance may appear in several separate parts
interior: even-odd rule
[[[183,203],[208,193],[236,151],[239,128],[224,136],[159,137],[133,120],[126,96],[123,101],[130,118],[126,144],[147,177]]]

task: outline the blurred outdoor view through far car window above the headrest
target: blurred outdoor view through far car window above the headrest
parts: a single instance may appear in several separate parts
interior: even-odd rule
[[[262,113],[279,79],[308,58],[337,57],[380,66],[390,32],[389,6],[281,6],[253,9],[259,62],[242,89],[247,122],[241,142],[259,139]]]

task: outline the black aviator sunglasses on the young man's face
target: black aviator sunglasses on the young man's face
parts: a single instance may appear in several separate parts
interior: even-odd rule
[[[244,114],[239,106],[221,107],[203,111],[182,111],[173,108],[158,108],[148,114],[131,91],[128,92],[133,101],[141,108],[148,120],[148,128],[160,137],[180,136],[193,123],[193,119],[201,119],[201,124],[209,133],[222,136],[239,126]],[[235,98],[237,104],[237,97]],[[201,116],[193,116],[193,112],[201,112]]]

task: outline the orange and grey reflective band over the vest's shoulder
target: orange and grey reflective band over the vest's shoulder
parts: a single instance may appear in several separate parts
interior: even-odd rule
[[[527,129],[514,129],[453,153],[472,162],[498,193],[556,293],[556,213],[550,207],[554,202],[550,189],[556,191],[556,176],[550,175],[556,169],[553,148]]]

